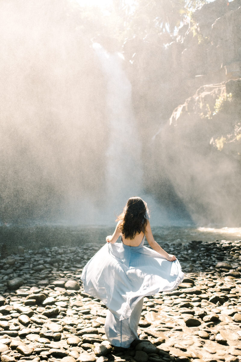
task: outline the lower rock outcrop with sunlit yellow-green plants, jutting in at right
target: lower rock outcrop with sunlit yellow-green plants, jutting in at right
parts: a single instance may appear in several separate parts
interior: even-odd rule
[[[240,96],[240,79],[203,86],[155,137],[150,189],[168,179],[196,223],[240,224]]]

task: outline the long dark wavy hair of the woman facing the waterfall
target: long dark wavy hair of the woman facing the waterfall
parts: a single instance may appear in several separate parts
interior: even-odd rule
[[[136,233],[145,233],[148,218],[146,202],[140,197],[130,197],[116,221],[120,221],[119,227],[125,239],[134,239]]]

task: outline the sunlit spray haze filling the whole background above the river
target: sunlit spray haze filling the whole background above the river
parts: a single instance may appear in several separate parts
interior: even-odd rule
[[[241,77],[240,10],[214,3],[174,35],[172,1],[113,3],[108,16],[70,0],[1,2],[1,223],[106,224],[138,195],[156,225],[239,226],[241,86],[224,82]]]

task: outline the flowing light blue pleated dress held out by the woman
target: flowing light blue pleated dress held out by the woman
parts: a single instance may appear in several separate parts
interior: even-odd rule
[[[178,260],[167,261],[145,247],[106,243],[85,265],[83,287],[108,308],[105,332],[114,346],[128,348],[138,339],[143,297],[172,291],[184,278]]]

